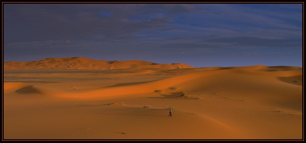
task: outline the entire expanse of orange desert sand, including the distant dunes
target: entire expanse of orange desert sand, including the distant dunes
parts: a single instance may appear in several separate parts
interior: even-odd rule
[[[4,68],[4,139],[303,138],[301,67],[47,58]]]

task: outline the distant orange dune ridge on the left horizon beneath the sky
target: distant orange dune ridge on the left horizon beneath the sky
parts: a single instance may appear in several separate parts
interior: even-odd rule
[[[4,69],[83,69],[83,70],[97,70],[97,69],[181,69],[194,68],[183,63],[173,64],[157,64],[147,61],[131,60],[131,61],[104,61],[93,60],[83,57],[74,58],[46,58],[38,61],[29,62],[4,62]]]

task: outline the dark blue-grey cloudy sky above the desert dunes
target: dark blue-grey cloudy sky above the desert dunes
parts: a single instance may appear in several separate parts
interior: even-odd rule
[[[303,3],[2,3],[3,62],[303,66]]]

